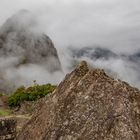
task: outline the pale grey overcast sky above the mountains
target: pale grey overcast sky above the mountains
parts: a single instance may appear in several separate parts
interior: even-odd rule
[[[0,0],[0,25],[20,9],[37,15],[57,48],[98,44],[140,50],[140,0]]]

